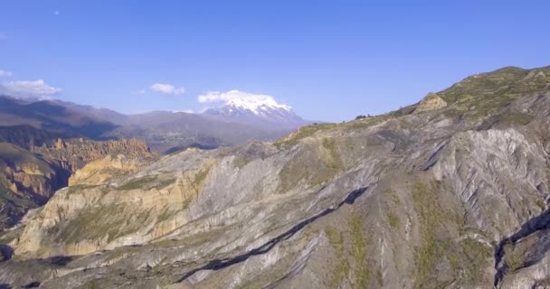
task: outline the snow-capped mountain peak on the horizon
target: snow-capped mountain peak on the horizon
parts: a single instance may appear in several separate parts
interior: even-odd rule
[[[223,107],[210,108],[204,114],[250,125],[298,127],[307,124],[292,107],[279,104],[273,98],[234,98]]]

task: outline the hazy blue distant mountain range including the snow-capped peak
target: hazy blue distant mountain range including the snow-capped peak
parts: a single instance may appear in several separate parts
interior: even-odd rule
[[[235,103],[246,103],[248,107]],[[308,123],[290,107],[274,101],[266,104],[235,99],[203,114],[154,111],[123,115],[61,100],[0,96],[0,126],[33,126],[64,137],[96,140],[136,137],[161,153],[190,146],[215,148],[275,140]]]

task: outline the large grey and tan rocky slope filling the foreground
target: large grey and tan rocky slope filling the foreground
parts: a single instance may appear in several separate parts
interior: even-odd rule
[[[41,288],[545,288],[550,68],[58,191],[1,237]],[[9,259],[9,260],[7,260]]]

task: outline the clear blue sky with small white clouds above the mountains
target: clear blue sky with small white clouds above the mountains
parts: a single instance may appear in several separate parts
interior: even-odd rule
[[[415,103],[471,74],[550,65],[550,1],[0,2],[0,89],[123,113],[242,95],[310,120]],[[210,99],[210,98],[208,98]]]

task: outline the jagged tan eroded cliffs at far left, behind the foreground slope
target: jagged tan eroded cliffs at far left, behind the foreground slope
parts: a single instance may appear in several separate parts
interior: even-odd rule
[[[27,210],[42,206],[68,185],[74,172],[78,172],[74,182],[97,183],[133,172],[156,158],[137,140],[57,139],[27,148],[0,143],[0,230],[13,226]],[[93,170],[93,161],[98,159],[102,161],[95,165],[101,168]],[[79,172],[90,162],[90,168]]]

